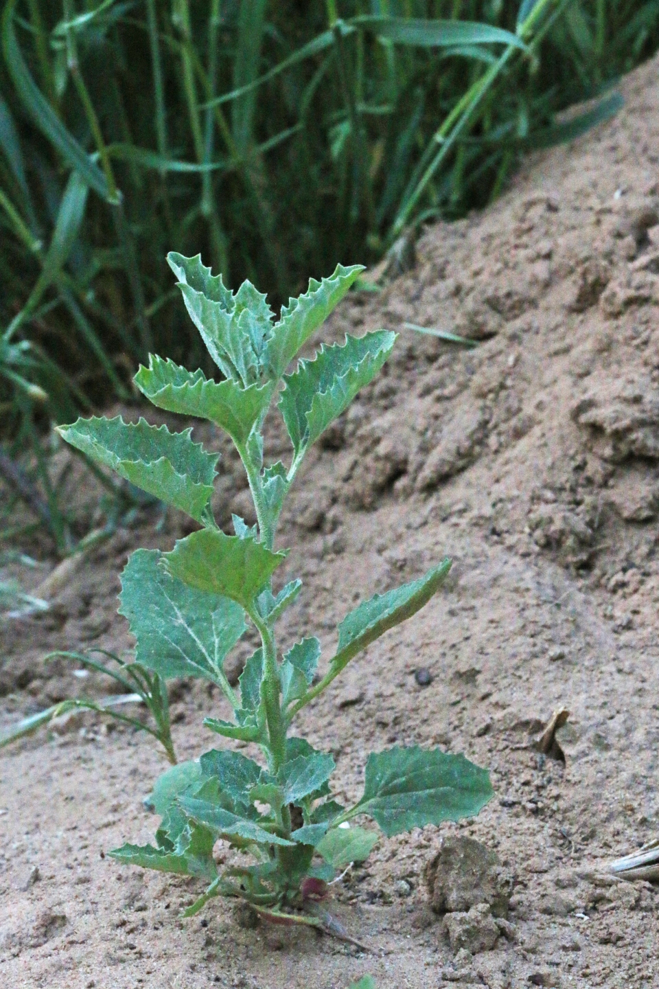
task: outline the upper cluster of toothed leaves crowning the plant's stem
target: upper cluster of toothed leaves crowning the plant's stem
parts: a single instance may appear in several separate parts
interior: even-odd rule
[[[338,265],[330,278],[311,279],[306,293],[291,299],[276,319],[266,297],[250,282],[237,292],[212,275],[200,255],[168,255],[188,312],[208,353],[224,376],[216,382],[201,370],[188,371],[150,355],[135,385],[153,405],[208,419],[233,440],[245,466],[258,516],[255,535],[272,548],[284,498],[304,453],[369,384],[388,357],[394,333],[347,337],[343,346],[321,347],[313,360],[288,365],[311,334],[350,289],[362,265]],[[263,422],[278,391],[292,445],[292,462],[263,464]],[[190,439],[143,419],[78,419],[61,435],[88,456],[118,471],[125,480],[212,526],[215,455]],[[238,533],[240,535],[240,533]],[[265,571],[264,571],[265,573]],[[266,580],[268,576],[266,576]]]

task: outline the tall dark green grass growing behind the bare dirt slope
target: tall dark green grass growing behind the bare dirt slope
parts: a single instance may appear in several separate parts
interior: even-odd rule
[[[0,474],[36,444],[56,513],[40,424],[149,350],[204,360],[167,250],[282,302],[485,205],[616,109],[555,123],[659,45],[659,0],[6,0],[2,45]]]

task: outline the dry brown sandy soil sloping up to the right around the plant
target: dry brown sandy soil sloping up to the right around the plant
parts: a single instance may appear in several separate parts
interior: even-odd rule
[[[659,894],[606,874],[659,832],[658,68],[624,81],[614,122],[528,162],[487,213],[428,230],[413,271],[353,297],[326,330],[384,325],[400,338],[292,497],[280,545],[305,587],[287,640],[319,629],[328,649],[359,597],[446,554],[454,565],[445,590],[297,729],[332,750],[345,796],[359,792],[370,750],[418,742],[489,766],[494,799],[460,826],[382,840],[345,878],[334,909],[368,954],[313,933],[244,930],[220,901],[183,922],[195,883],[103,857],[151,836],[141,798],[164,759],[130,731],[74,720],[0,763],[2,986],[342,989],[365,972],[379,989],[457,975],[490,989],[659,984]],[[406,321],[482,342],[458,350]],[[277,432],[269,443],[284,447]],[[245,514],[245,494],[227,453],[219,516]],[[42,657],[127,653],[115,613],[126,553],[171,546],[182,524],[142,510],[47,613],[4,624],[3,723],[112,689]],[[43,561],[19,576],[36,584],[45,550]],[[180,758],[212,747],[201,714],[220,708],[198,683],[176,685]],[[570,711],[564,763],[534,747],[559,708]],[[422,879],[449,834],[496,850],[516,883],[508,938],[462,956],[459,972]]]

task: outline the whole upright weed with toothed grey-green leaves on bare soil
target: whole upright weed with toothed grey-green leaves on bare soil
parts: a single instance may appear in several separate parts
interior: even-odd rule
[[[233,709],[230,720],[206,718],[225,739],[252,743],[262,761],[230,748],[206,752],[199,762],[175,765],[156,782],[152,804],[162,817],[155,845],[124,845],[112,854],[147,868],[199,876],[206,893],[241,897],[260,913],[289,922],[317,923],[300,913],[310,893],[350,862],[363,860],[377,840],[351,826],[371,817],[385,835],[473,815],[491,795],[487,772],[462,756],[440,750],[394,747],[371,754],[364,795],[354,806],[334,800],[329,778],[334,760],[288,732],[295,715],[317,697],[350,661],[387,629],[413,615],[449,572],[444,560],[425,577],[375,594],[344,618],[334,656],[316,676],[316,638],[288,644],[282,655],[275,629],[300,592],[301,582],[275,588],[287,552],[275,549],[284,500],[305,453],[382,367],[395,334],[379,330],[344,345],[321,346],[313,360],[300,347],[329,315],[362,266],[337,267],[322,282],[275,315],[245,282],[234,295],[200,257],[170,254],[169,264],[206,347],[224,376],[206,380],[160,357],[140,367],[137,388],[154,405],[209,419],[235,444],[254,499],[257,524],[233,516],[234,535],[222,532],[210,495],[217,455],[191,439],[144,419],[78,419],[62,436],[102,465],[191,515],[201,527],[169,553],[137,550],[123,575],[121,611],[136,639],[135,661],[167,676],[201,676],[216,684]],[[284,417],[292,445],[290,464],[263,463],[263,424],[272,405]],[[239,690],[222,664],[251,622],[261,646],[247,660]],[[218,874],[218,839],[249,853],[234,856]]]

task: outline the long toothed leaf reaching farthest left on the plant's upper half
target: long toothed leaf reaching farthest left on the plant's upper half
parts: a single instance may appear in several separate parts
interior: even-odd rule
[[[193,443],[190,429],[170,433],[167,426],[152,426],[114,419],[78,419],[58,426],[72,446],[104,467],[112,468],[136,488],[153,494],[198,521],[212,494],[217,455]]]

